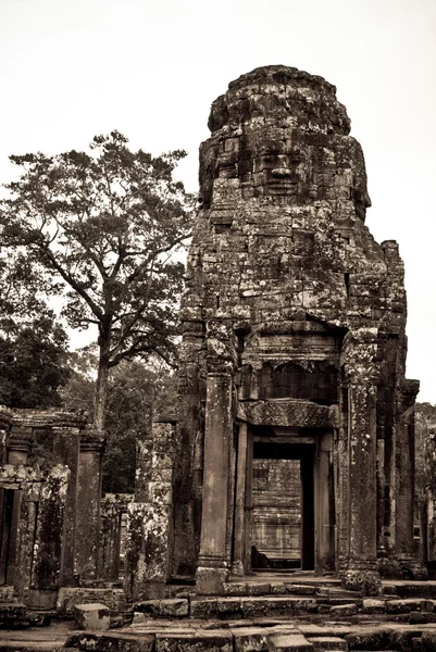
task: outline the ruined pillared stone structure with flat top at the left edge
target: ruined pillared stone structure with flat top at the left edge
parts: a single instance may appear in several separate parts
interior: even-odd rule
[[[104,437],[84,415],[0,410],[0,581],[52,609],[98,576]]]

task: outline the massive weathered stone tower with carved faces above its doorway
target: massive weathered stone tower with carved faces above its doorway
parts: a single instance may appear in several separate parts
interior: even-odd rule
[[[279,459],[299,463],[302,568],[370,593],[381,575],[416,577],[403,265],[364,224],[346,109],[322,77],[266,66],[231,83],[209,127],[182,305],[170,574],[216,593],[250,572],[253,460]]]

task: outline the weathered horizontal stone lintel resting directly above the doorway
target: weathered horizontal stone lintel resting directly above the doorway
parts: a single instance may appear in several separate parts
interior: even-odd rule
[[[296,399],[270,399],[238,404],[237,416],[256,426],[337,428],[337,405],[319,405]]]

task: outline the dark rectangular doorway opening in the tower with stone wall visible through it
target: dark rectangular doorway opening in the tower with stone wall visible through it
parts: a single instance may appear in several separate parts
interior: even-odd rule
[[[315,446],[253,442],[253,568],[314,568]]]

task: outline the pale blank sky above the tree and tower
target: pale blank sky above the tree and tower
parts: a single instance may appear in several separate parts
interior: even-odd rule
[[[406,263],[408,377],[436,403],[436,0],[0,0],[0,183],[9,154],[119,129],[154,154],[186,149],[194,191],[211,102],[279,63],[325,77],[347,106],[366,224]]]

